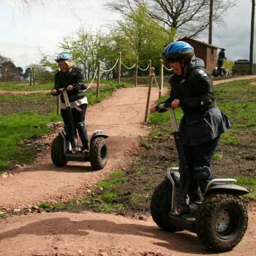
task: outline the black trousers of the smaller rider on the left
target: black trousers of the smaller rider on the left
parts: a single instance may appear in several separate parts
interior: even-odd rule
[[[85,126],[85,118],[86,118],[86,108],[87,108],[87,104],[83,104],[80,105],[79,108],[81,109],[81,111],[77,110],[76,108],[72,108],[72,116],[74,119],[74,125],[75,128],[78,130],[78,134],[80,137],[80,140],[83,144],[83,148],[84,149],[88,149],[88,135],[86,132],[86,126]],[[69,120],[69,116],[67,115],[67,110],[66,109],[61,109],[61,116],[63,118],[64,121],[64,125],[65,127],[67,127],[67,131],[70,129],[71,124],[70,124],[70,120]],[[70,136],[70,135],[68,135]]]

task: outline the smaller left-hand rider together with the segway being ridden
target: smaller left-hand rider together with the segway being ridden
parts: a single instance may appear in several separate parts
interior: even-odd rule
[[[85,117],[88,101],[84,92],[87,89],[85,79],[80,69],[75,67],[72,56],[61,53],[56,61],[59,72],[54,78],[53,96],[61,95],[61,117],[64,129],[53,140],[51,157],[56,166],[63,166],[67,161],[90,161],[94,170],[105,167],[108,148],[105,138],[107,135],[97,130],[91,137],[90,150],[86,131]],[[77,132],[82,147],[77,144]]]

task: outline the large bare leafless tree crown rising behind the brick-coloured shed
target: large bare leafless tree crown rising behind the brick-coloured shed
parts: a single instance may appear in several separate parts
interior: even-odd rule
[[[214,0],[212,20],[222,21],[224,12],[233,7],[236,0]],[[210,0],[109,0],[110,10],[128,15],[130,11],[143,5],[152,18],[167,26],[170,33],[195,37],[208,28]],[[129,12],[128,12],[129,11]]]

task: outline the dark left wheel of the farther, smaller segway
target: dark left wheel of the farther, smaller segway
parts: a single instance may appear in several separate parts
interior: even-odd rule
[[[58,135],[51,145],[50,156],[53,164],[61,167],[67,165],[67,160],[64,157],[64,138]]]

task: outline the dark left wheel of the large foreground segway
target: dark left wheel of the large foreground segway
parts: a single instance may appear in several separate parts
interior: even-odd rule
[[[163,230],[176,232],[182,229],[170,222],[170,204],[172,197],[172,185],[169,181],[162,181],[154,190],[151,197],[151,216],[154,222]]]

